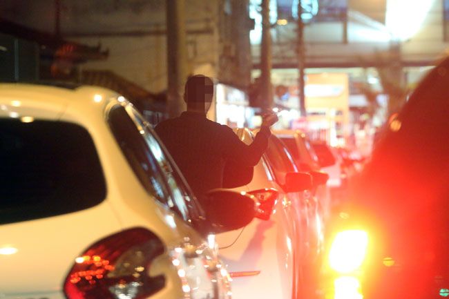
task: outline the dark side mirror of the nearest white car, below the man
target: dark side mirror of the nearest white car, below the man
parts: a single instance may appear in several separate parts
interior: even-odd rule
[[[213,189],[202,201],[210,224],[209,233],[222,233],[246,226],[256,213],[256,198],[245,192]]]

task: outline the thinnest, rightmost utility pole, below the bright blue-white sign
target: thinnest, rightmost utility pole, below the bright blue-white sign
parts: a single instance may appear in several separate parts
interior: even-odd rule
[[[301,117],[306,117],[305,110],[305,81],[304,81],[304,68],[305,68],[305,47],[304,47],[304,22],[303,22],[303,6],[301,6],[301,0],[298,0],[298,97],[299,97],[299,111]]]

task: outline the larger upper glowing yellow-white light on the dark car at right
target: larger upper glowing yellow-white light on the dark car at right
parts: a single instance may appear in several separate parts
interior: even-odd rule
[[[365,260],[368,235],[365,231],[350,230],[338,233],[329,251],[329,265],[340,273],[359,269]]]

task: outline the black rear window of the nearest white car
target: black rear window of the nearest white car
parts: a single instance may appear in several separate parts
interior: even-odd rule
[[[86,129],[67,122],[0,119],[0,223],[87,209],[106,197]]]

